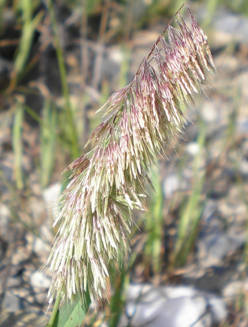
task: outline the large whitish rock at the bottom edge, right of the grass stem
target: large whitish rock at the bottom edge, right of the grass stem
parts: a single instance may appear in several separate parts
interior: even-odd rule
[[[210,327],[225,319],[227,311],[221,298],[191,286],[136,284],[128,287],[126,314],[133,327]],[[120,327],[127,324],[123,316]]]

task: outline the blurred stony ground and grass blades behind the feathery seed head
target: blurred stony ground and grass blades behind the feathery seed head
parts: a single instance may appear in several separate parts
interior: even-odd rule
[[[49,320],[40,268],[60,174],[182,3],[0,0],[0,326]],[[248,326],[248,1],[187,4],[208,35],[214,91],[159,158],[131,253],[84,326]]]

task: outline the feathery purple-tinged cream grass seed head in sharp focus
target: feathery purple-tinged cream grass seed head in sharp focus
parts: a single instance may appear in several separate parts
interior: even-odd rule
[[[61,225],[48,260],[50,302],[59,290],[64,300],[79,295],[83,301],[86,288],[92,300],[102,297],[108,264],[129,250],[132,210],[144,210],[147,172],[182,129],[194,94],[209,84],[215,68],[207,37],[188,12],[191,29],[178,12],[178,28],[167,26],[133,81],[99,109],[108,118],[88,141],[93,150],[66,169],[71,181],[60,198],[54,225]]]

